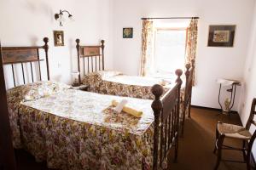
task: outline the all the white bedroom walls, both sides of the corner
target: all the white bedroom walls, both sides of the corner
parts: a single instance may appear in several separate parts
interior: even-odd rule
[[[71,72],[77,70],[74,42],[77,37],[86,44],[105,39],[107,68],[138,75],[141,17],[200,16],[197,85],[192,104],[218,108],[216,79],[243,77],[253,3],[253,0],[131,0],[129,3],[124,0],[0,0],[0,38],[3,46],[29,46],[43,45],[43,37],[49,37],[49,69],[53,80],[70,82]],[[60,27],[54,19],[59,9],[69,10],[75,21]],[[207,47],[208,26],[214,24],[236,24],[234,48]],[[125,26],[134,28],[134,38],[122,38]],[[64,31],[64,47],[54,47],[54,30]],[[10,79],[9,82],[12,84]],[[239,94],[238,91],[235,110],[239,106]]]

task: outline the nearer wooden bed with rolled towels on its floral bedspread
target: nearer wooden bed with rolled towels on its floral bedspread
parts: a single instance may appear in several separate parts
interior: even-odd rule
[[[177,80],[170,88],[158,84],[150,88],[154,100],[83,92],[49,81],[47,43],[48,38],[44,38],[42,47],[2,50],[3,65],[11,65],[15,85],[8,90],[15,148],[29,151],[50,168],[61,169],[166,168],[171,148],[177,159],[181,70],[176,71]],[[77,48],[79,52],[80,47]],[[40,59],[39,49],[45,52],[47,81],[44,82],[40,68],[44,60]],[[32,68],[34,62],[38,63],[38,71],[30,70],[32,83],[29,83],[24,76],[24,65],[29,63]],[[15,65],[21,65],[24,83],[17,87]],[[127,99],[127,105],[143,111],[143,116],[115,114],[113,99]]]

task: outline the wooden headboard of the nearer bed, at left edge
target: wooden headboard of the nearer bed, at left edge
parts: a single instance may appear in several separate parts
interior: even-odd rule
[[[45,52],[45,60],[46,60],[46,69],[47,69],[47,80],[49,80],[49,60],[48,60],[48,42],[49,38],[44,37],[44,46],[32,46],[32,47],[2,47],[1,49],[1,58],[3,60],[3,65],[11,65],[12,69],[12,77],[14,81],[14,85],[16,86],[15,81],[15,65],[21,65],[22,77],[23,77],[23,84],[26,84],[25,78],[25,69],[24,64],[30,63],[30,71],[32,82],[34,82],[34,72],[32,69],[32,63],[38,63],[38,73],[39,73],[39,80],[42,80],[41,74],[41,59],[39,56],[39,49],[44,49]]]

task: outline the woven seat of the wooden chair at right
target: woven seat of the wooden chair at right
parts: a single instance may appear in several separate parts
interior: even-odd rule
[[[245,127],[219,122],[217,128],[218,133],[224,134],[228,138],[248,140],[252,137],[252,134]]]

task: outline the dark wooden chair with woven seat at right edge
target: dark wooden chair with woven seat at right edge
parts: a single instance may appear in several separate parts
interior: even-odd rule
[[[241,163],[247,163],[247,170],[251,169],[250,166],[250,157],[251,157],[251,151],[253,147],[253,141],[256,138],[256,131],[254,133],[250,133],[249,129],[251,125],[253,124],[256,126],[256,122],[253,121],[253,117],[256,114],[255,111],[256,106],[256,98],[253,99],[252,107],[251,107],[251,113],[249,116],[249,119],[247,121],[246,127],[241,127],[233,124],[218,122],[217,128],[216,128],[216,144],[214,148],[214,153],[217,151],[217,162],[214,167],[215,170],[218,169],[220,161],[232,161],[232,162],[241,162]],[[234,148],[229,145],[224,144],[225,138],[231,138],[231,139],[238,139],[242,141],[242,148]],[[221,158],[221,152],[222,150],[240,150],[243,153],[243,161],[233,161],[233,160],[223,160]]]

